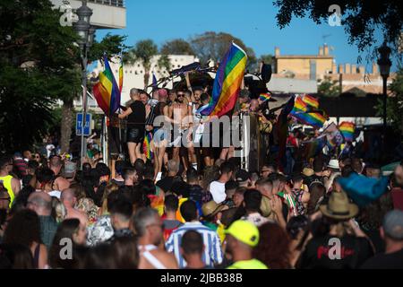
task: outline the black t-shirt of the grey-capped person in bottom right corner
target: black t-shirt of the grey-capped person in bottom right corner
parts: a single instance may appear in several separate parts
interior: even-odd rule
[[[377,254],[366,260],[361,269],[403,269],[403,248],[390,254]]]

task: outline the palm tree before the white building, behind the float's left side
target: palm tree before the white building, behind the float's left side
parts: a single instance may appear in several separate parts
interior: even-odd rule
[[[149,84],[151,59],[157,55],[159,49],[152,39],[143,39],[136,43],[134,48],[131,48],[124,55],[124,62],[134,63],[140,61],[144,67],[144,88]]]

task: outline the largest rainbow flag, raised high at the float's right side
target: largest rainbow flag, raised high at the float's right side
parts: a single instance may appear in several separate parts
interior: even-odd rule
[[[200,111],[202,116],[221,117],[234,109],[244,79],[246,60],[244,50],[232,43],[227,54],[219,63],[209,106]]]

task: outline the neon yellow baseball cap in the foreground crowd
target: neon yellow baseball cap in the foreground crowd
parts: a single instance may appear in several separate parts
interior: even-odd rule
[[[224,232],[250,247],[255,247],[259,243],[259,230],[252,222],[236,221]]]

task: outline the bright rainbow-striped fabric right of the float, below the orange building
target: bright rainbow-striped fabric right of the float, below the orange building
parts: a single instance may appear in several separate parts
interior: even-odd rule
[[[317,128],[321,128],[323,124],[326,122],[326,117],[322,115],[321,111],[315,111],[316,99],[309,96],[307,98],[308,102],[304,101],[304,97],[297,97],[296,102],[294,104],[294,109],[291,111],[291,115],[296,117],[297,120],[302,122],[304,125],[314,126]],[[317,102],[317,100],[316,100]]]

